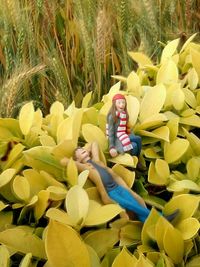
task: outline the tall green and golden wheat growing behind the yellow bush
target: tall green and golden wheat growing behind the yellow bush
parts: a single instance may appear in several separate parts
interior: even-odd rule
[[[89,91],[100,100],[111,75],[133,69],[127,51],[157,59],[161,43],[199,31],[198,11],[197,0],[0,0],[1,99],[19,107],[33,99],[44,113],[55,100],[78,104]],[[6,89],[38,65],[45,70]],[[1,105],[2,116],[15,116],[11,110]]]

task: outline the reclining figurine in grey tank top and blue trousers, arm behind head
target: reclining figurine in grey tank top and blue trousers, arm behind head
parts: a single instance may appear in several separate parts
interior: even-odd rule
[[[97,143],[92,143],[87,149],[78,147],[74,151],[74,159],[79,172],[89,170],[89,179],[96,185],[104,204],[116,202],[125,210],[133,211],[141,222],[145,222],[150,210],[144,200],[111,168],[100,161]],[[61,164],[67,165],[68,161],[68,158],[63,158]],[[166,219],[172,220],[176,215],[177,211]]]

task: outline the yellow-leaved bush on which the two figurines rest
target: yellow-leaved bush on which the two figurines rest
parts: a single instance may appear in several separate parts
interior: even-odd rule
[[[100,103],[91,104],[90,92],[81,108],[55,102],[43,117],[29,102],[18,119],[0,119],[3,266],[198,266],[200,46],[194,36],[179,52],[179,40],[169,42],[157,65],[130,52],[137,71],[115,76],[120,82]],[[128,154],[109,158],[106,114],[119,91],[132,129],[142,136],[139,160],[147,172],[135,171],[138,159]],[[147,204],[164,214],[179,208],[180,216],[171,224],[152,208],[142,225],[119,218],[117,204],[103,205],[87,171],[78,174],[73,159],[66,168],[60,164],[78,143],[94,140],[102,160]]]

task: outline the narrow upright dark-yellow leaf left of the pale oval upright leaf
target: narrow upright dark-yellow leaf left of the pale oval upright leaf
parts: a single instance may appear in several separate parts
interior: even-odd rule
[[[38,201],[34,207],[34,216],[37,221],[44,215],[48,205],[49,205],[49,192],[46,190],[41,190],[38,193]]]

